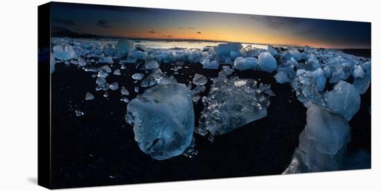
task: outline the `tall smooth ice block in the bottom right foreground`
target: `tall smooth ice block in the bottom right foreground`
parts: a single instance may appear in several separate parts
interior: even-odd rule
[[[308,107],[306,121],[299,147],[283,174],[339,170],[351,140],[348,122],[315,104]]]

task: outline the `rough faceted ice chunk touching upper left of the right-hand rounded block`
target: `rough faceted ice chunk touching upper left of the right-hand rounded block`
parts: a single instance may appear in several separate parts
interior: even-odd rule
[[[310,102],[319,106],[324,106],[323,97],[317,90],[317,84],[310,71],[299,69],[296,71],[296,77],[291,83],[292,91],[295,91],[296,97],[301,101],[304,107],[308,107]]]

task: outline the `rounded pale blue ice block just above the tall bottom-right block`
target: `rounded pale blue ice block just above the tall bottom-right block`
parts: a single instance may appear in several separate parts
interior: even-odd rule
[[[351,120],[360,109],[360,94],[353,86],[345,81],[340,81],[325,95],[327,107],[340,116]]]

